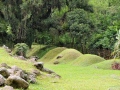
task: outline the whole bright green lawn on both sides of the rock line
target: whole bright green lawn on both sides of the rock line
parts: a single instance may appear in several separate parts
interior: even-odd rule
[[[24,70],[34,69],[27,61],[15,59],[0,48],[0,63],[17,65]],[[46,68],[55,71],[60,79],[43,75],[37,77],[36,84],[30,84],[28,90],[109,90],[120,87],[120,71],[105,70],[93,67],[80,67],[70,64],[44,64]]]

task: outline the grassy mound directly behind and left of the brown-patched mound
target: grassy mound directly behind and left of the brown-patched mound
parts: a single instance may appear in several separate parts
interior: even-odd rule
[[[43,62],[48,62],[48,61],[52,60],[57,54],[59,54],[60,52],[62,52],[65,49],[66,49],[65,47],[54,48],[54,49],[48,51],[40,60]]]

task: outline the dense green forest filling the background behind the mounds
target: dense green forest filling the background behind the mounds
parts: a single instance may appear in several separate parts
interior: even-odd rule
[[[0,0],[0,44],[55,45],[110,58],[119,18],[119,0]]]

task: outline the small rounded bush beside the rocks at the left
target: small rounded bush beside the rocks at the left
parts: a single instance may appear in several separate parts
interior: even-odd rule
[[[14,54],[19,55],[19,56],[24,56],[26,57],[26,53],[28,51],[29,47],[25,43],[17,43],[14,45]]]

